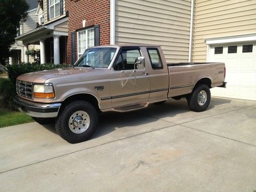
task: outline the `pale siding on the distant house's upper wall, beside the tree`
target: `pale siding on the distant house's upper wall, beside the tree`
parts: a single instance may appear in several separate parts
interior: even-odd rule
[[[28,31],[36,28],[37,15],[35,15],[35,12],[36,10],[28,12],[26,21],[20,26],[20,34],[27,33]]]

